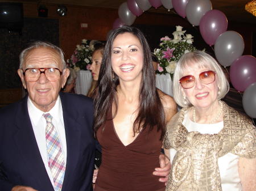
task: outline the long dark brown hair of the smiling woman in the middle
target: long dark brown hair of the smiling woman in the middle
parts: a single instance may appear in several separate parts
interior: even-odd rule
[[[133,124],[134,133],[141,129],[145,129],[146,127],[148,127],[149,130],[152,130],[156,125],[158,130],[162,130],[162,139],[165,133],[166,124],[163,105],[155,87],[155,73],[152,65],[150,48],[143,33],[138,28],[128,26],[115,29],[110,34],[105,46],[98,78],[98,94],[94,101],[94,131],[96,132],[107,120],[109,110],[112,111],[112,103],[114,103],[115,106],[114,116],[118,110],[117,86],[119,84],[119,79],[114,72],[114,78],[112,77],[111,55],[115,37],[125,32],[132,33],[134,36],[138,37],[138,40],[143,47],[142,82],[139,90],[138,116]]]

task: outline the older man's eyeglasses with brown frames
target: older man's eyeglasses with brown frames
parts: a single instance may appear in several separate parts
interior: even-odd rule
[[[30,68],[23,71],[23,75],[26,77],[28,82],[36,82],[40,75],[44,73],[49,81],[56,81],[60,78],[62,71],[56,67],[42,67],[42,68]]]

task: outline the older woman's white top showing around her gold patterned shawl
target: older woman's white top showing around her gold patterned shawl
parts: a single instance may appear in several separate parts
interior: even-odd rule
[[[182,123],[187,130],[198,131],[201,134],[217,134],[224,126],[223,121],[217,124],[197,124],[191,121],[186,113]],[[170,149],[171,162],[174,159],[176,150]],[[242,185],[238,175],[238,155],[228,153],[218,158],[218,168],[220,169],[222,191],[241,191]]]

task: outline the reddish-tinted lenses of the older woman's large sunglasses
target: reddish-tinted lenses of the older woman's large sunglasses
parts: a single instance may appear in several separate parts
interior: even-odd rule
[[[215,81],[215,71],[203,71],[203,73],[199,74],[199,79],[201,83],[210,84]],[[196,78],[193,75],[186,75],[185,77],[180,78],[179,80],[181,86],[184,89],[192,88],[195,86]]]

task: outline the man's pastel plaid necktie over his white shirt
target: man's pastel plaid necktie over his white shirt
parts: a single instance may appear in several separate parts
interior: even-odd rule
[[[60,191],[65,175],[65,161],[61,150],[60,139],[55,126],[52,124],[52,116],[43,114],[46,118],[46,147],[48,154],[48,165],[51,169],[55,190]]]

